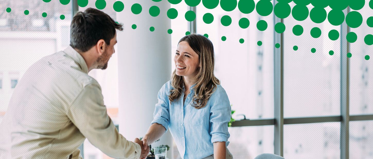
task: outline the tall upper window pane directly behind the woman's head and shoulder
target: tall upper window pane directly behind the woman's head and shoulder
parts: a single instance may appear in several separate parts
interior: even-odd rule
[[[214,16],[210,24],[203,21],[206,13]],[[232,19],[229,26],[223,26],[220,22],[226,15]],[[241,18],[250,21],[246,29],[238,25]],[[257,29],[259,20],[268,23],[266,30]],[[265,17],[255,11],[244,14],[238,7],[226,12],[220,6],[206,9],[200,3],[197,6],[197,33],[207,34],[214,45],[214,73],[228,94],[232,110],[236,111],[233,118],[243,119],[242,114],[247,119],[273,118],[273,13]],[[225,41],[222,40],[223,36],[226,37]],[[240,43],[240,39],[244,42]],[[263,45],[258,46],[258,41]]]

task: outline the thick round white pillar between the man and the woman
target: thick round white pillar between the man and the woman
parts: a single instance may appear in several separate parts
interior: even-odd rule
[[[167,17],[170,3],[167,0],[123,1],[124,9],[117,13],[117,22],[124,24],[124,30],[117,32],[118,78],[119,78],[119,132],[128,140],[142,137],[147,132],[158,91],[170,80],[171,70],[171,21]],[[142,6],[140,14],[133,14],[131,6]],[[157,6],[160,14],[152,17],[151,6]],[[132,25],[137,26],[132,29]],[[150,27],[155,30],[151,32]],[[163,135],[157,145],[168,145],[167,158],[172,159],[172,136]]]

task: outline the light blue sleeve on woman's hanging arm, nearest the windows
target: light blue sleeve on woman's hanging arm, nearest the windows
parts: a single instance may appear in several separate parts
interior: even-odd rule
[[[210,97],[211,143],[227,142],[229,138],[228,122],[231,121],[231,105],[225,90],[218,85]]]

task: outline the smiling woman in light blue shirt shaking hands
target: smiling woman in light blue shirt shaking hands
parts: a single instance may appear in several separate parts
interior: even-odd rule
[[[214,48],[202,35],[178,43],[172,80],[158,93],[154,120],[142,138],[144,149],[168,129],[184,159],[233,159],[228,122],[231,106],[214,76]]]

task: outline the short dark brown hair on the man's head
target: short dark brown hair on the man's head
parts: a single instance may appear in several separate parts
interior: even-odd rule
[[[100,10],[88,8],[78,12],[70,25],[70,46],[86,52],[103,39],[106,45],[114,38],[116,30],[123,30],[123,25],[116,23],[109,15]]]

